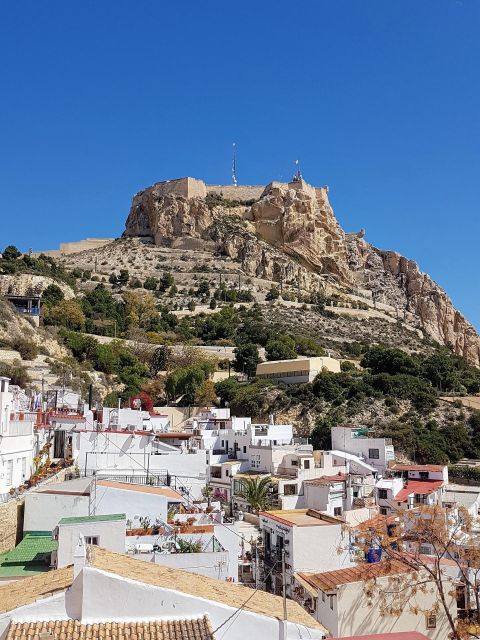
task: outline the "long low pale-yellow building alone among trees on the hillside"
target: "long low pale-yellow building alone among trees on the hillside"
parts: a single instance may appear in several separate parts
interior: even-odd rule
[[[285,384],[312,382],[322,371],[340,372],[340,360],[335,358],[296,358],[295,360],[271,360],[257,365],[258,378],[281,380]]]

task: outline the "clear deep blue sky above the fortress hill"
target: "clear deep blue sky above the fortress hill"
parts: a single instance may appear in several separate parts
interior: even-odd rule
[[[478,0],[0,5],[0,244],[116,236],[191,175],[330,186],[480,327]]]

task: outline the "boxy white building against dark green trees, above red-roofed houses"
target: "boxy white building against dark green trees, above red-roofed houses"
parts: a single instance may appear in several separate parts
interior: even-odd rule
[[[332,428],[332,452],[337,451],[357,456],[380,474],[395,459],[390,438],[371,438],[367,429],[358,427]]]

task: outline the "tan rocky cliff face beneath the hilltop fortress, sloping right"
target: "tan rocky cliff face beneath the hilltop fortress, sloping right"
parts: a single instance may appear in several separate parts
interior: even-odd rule
[[[480,338],[445,291],[414,261],[373,247],[363,232],[345,234],[325,188],[303,180],[271,183],[248,206],[212,206],[198,195],[198,185],[190,191],[188,180],[158,183],[137,194],[124,235],[148,236],[163,246],[184,238],[213,241],[217,252],[238,261],[250,276],[300,283],[306,290],[363,289],[480,364]]]

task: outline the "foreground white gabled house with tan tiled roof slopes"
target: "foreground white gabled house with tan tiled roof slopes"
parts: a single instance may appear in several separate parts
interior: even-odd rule
[[[73,571],[65,567],[47,576],[0,586],[0,637],[12,636],[17,629],[28,637],[43,629],[83,637],[87,630],[92,632],[86,625],[93,624],[98,625],[99,635],[108,624],[112,637],[148,634],[150,640],[213,640],[220,627],[224,640],[326,636],[325,629],[296,602],[287,602],[284,621],[281,598],[99,547],[88,547],[87,553],[85,547],[78,547]]]

